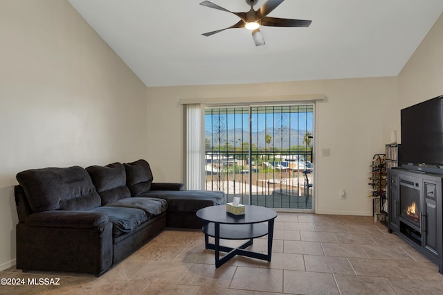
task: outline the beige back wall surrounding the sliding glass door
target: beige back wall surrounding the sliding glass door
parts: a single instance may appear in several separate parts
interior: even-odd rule
[[[183,107],[180,100],[278,100],[324,93],[316,103],[316,212],[372,215],[368,171],[390,141],[396,120],[397,78],[148,88],[148,159],[156,181],[183,181]],[[322,157],[323,149],[331,150]],[[345,190],[347,199],[339,198]]]

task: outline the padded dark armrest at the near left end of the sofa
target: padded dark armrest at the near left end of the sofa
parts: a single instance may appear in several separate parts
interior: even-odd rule
[[[26,217],[27,226],[39,227],[68,227],[74,229],[89,229],[108,222],[106,213],[85,211],[45,211],[33,213]]]

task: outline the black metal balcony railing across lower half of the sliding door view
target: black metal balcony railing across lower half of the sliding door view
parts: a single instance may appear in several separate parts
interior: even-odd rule
[[[249,161],[248,159],[252,159]],[[206,190],[221,190],[232,202],[269,208],[312,209],[311,151],[205,154]]]

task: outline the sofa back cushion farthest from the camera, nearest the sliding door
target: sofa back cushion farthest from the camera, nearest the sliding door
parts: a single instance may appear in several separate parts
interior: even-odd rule
[[[131,191],[132,197],[146,193],[151,189],[152,176],[150,164],[145,160],[132,163],[124,163],[126,170],[126,185]]]

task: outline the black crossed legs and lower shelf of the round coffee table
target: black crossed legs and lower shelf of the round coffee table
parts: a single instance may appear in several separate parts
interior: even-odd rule
[[[228,262],[230,258],[236,255],[256,258],[260,260],[271,261],[272,238],[274,220],[269,220],[268,224],[219,224],[217,222],[209,222],[205,224],[202,231],[205,234],[205,247],[215,251],[215,267],[221,267]],[[268,235],[268,253],[258,253],[246,250],[253,244],[254,238],[260,238]],[[209,237],[215,238],[214,244],[209,242]],[[246,240],[237,248],[231,248],[220,245],[220,239],[226,240]],[[220,258],[220,252],[226,252],[226,255]]]

